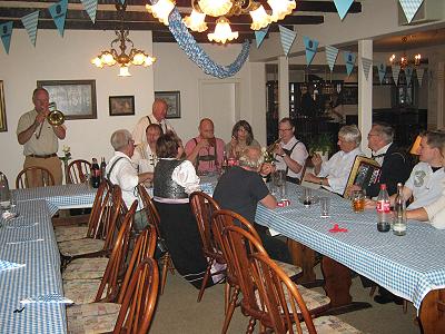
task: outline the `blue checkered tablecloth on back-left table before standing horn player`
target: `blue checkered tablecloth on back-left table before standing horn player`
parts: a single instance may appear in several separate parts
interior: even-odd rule
[[[17,202],[46,199],[50,209],[91,207],[97,189],[86,184],[70,184],[52,187],[16,189],[12,196]]]

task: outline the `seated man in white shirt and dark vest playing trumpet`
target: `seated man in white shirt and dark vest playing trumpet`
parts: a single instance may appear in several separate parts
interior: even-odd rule
[[[306,146],[295,138],[294,130],[290,118],[279,121],[278,136],[281,140],[275,145],[274,153],[277,170],[286,170],[286,179],[299,184],[308,153]]]

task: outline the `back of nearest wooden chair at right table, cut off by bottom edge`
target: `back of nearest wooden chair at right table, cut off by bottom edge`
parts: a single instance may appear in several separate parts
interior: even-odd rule
[[[275,333],[303,333],[297,313],[303,316],[309,334],[316,330],[297,286],[268,256],[255,253],[249,256],[250,273],[264,312]],[[295,326],[295,327],[294,327]]]

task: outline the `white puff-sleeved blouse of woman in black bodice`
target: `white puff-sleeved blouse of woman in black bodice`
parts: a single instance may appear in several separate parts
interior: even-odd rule
[[[165,158],[166,160],[174,160],[175,158]],[[199,187],[199,177],[196,175],[196,169],[194,164],[189,160],[184,160],[179,166],[174,169],[171,174],[171,179],[177,183],[179,186],[184,187],[186,193],[190,195],[194,191],[200,190]],[[188,203],[188,198],[180,199],[169,199],[161,197],[154,197],[155,200],[161,203]]]

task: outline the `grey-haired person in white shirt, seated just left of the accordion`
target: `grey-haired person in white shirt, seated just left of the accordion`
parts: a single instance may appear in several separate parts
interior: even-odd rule
[[[323,163],[319,155],[314,155],[314,174],[308,173],[304,179],[319,184],[324,188],[343,195],[353,168],[355,157],[363,155],[359,145],[362,134],[357,126],[344,126],[338,131],[337,145],[340,148],[328,161]]]

